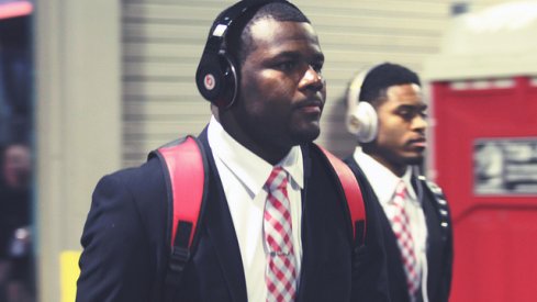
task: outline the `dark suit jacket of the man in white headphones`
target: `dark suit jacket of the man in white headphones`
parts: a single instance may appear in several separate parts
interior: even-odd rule
[[[363,191],[372,194],[372,201],[380,208],[380,202],[374,194],[366,175],[353,157],[345,160],[355,172]],[[413,177],[414,189],[422,190],[422,204],[427,224],[427,293],[429,302],[447,302],[451,287],[452,272],[452,230],[449,215],[439,214],[438,202],[427,186]],[[421,186],[421,188],[417,188]],[[406,276],[401,260],[401,251],[393,234],[390,222],[382,211],[381,222],[388,262],[388,280],[390,284],[390,298],[392,302],[410,302],[406,286]],[[446,221],[449,226],[443,227],[440,223]]]

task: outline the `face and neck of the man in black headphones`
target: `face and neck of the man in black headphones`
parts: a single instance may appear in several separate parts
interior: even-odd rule
[[[215,116],[238,143],[276,165],[320,134],[324,55],[309,23],[264,18],[251,24],[250,35],[237,102]]]

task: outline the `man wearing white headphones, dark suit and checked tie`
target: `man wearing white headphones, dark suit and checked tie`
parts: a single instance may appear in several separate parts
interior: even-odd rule
[[[391,301],[446,302],[452,231],[441,190],[416,174],[425,150],[426,109],[412,70],[384,63],[348,91],[347,127],[360,145],[347,164],[383,209]]]

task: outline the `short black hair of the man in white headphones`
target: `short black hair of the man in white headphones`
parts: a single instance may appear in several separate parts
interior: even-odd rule
[[[380,100],[385,99],[389,87],[404,83],[422,86],[417,74],[404,66],[391,63],[377,65],[363,79],[359,100],[378,105]]]

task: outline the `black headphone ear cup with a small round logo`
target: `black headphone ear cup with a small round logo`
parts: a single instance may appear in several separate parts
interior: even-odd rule
[[[225,54],[204,54],[195,72],[195,85],[201,96],[217,105],[230,108],[237,94],[235,65]]]

